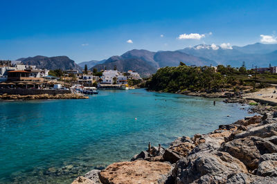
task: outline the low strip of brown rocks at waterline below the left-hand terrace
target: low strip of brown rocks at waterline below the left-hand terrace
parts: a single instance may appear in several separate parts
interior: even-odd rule
[[[39,100],[39,99],[86,99],[87,95],[78,93],[65,93],[65,94],[39,94],[39,95],[0,95],[0,100]]]

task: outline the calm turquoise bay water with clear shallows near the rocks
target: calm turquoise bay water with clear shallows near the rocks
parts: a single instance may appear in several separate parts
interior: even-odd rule
[[[0,102],[0,183],[70,183],[129,160],[148,141],[168,146],[178,136],[235,122],[247,116],[240,108],[144,89],[100,91],[88,100]]]

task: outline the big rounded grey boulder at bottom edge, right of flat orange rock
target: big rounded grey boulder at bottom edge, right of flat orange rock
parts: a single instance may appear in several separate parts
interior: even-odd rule
[[[230,174],[247,173],[247,167],[240,160],[220,151],[181,158],[175,170],[175,183],[226,183]]]

